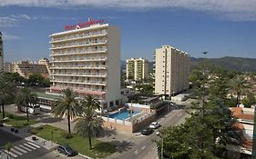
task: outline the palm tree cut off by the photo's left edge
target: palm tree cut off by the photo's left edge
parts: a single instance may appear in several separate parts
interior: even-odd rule
[[[2,106],[3,119],[5,118],[5,104],[12,96],[13,89],[13,84],[6,82],[3,78],[0,79],[0,104]]]

